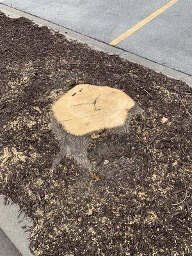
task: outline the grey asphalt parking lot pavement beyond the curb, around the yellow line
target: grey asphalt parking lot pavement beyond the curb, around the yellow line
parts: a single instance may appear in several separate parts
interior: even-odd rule
[[[109,44],[174,2],[116,47],[192,75],[191,0],[3,0],[3,4]]]

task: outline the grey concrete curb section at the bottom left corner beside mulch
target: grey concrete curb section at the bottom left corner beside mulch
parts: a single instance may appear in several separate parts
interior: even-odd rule
[[[12,241],[22,256],[33,256],[29,250],[29,232],[26,232],[32,224],[24,213],[19,210],[19,206],[12,204],[12,201],[10,204],[4,205],[4,196],[0,195],[0,228]],[[27,229],[22,228],[25,226]]]

